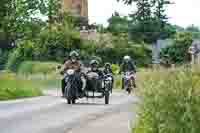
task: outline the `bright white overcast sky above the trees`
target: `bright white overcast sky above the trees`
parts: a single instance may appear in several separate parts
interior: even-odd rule
[[[186,27],[191,24],[200,26],[200,0],[173,0],[167,11],[170,22]],[[107,19],[114,11],[127,15],[134,11],[134,6],[125,6],[116,0],[89,0],[89,19],[91,23],[107,25]]]

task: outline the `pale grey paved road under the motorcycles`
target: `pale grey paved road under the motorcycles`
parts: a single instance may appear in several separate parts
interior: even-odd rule
[[[116,130],[116,125],[121,125],[121,130],[128,130],[129,107],[138,101],[136,97],[115,92],[111,96],[110,105],[104,105],[103,99],[81,99],[76,105],[68,105],[59,93],[52,91],[47,94],[0,102],[0,132],[94,133],[92,130],[102,126]]]

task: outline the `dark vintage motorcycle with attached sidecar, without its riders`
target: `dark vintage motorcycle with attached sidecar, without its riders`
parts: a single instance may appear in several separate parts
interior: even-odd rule
[[[105,104],[109,104],[112,82],[108,75],[100,77],[97,73],[83,74],[69,69],[65,73],[64,97],[68,104],[75,104],[81,98],[104,98]],[[86,86],[82,89],[84,84]]]

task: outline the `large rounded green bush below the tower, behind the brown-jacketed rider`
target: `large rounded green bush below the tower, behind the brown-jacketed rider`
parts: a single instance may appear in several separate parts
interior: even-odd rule
[[[55,24],[51,30],[44,27],[38,38],[17,41],[17,48],[10,53],[6,68],[16,72],[23,61],[63,62],[71,50],[80,49],[80,34],[67,25]]]

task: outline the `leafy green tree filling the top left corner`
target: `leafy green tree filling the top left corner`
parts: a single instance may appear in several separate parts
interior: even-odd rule
[[[0,5],[0,29],[6,39],[17,39],[26,33],[32,34],[32,22],[40,20],[37,16],[44,10],[43,0],[3,0]],[[35,23],[36,24],[36,23]],[[40,24],[40,23],[39,23]],[[27,27],[28,26],[28,27]]]

